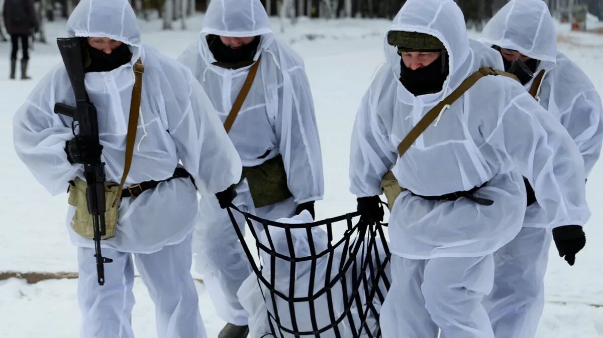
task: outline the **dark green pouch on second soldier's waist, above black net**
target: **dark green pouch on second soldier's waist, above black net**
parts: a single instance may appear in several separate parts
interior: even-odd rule
[[[283,156],[277,155],[255,167],[243,167],[255,207],[269,206],[291,197]]]

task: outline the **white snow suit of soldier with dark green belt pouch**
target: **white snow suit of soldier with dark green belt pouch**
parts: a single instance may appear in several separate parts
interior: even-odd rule
[[[323,197],[323,164],[314,103],[301,58],[273,37],[270,20],[259,0],[215,0],[207,8],[199,40],[178,60],[189,67],[205,88],[221,120],[226,120],[250,66],[216,66],[207,35],[260,36],[254,60],[259,70],[241,111],[230,129],[245,167],[282,155],[292,197],[256,208],[246,179],[238,185],[234,203],[262,218],[291,217],[297,204]],[[239,222],[239,224],[243,224]],[[201,201],[201,223],[195,230],[197,268],[211,290],[218,315],[235,325],[247,324],[247,313],[236,292],[251,273],[225,210],[215,198]],[[257,229],[261,231],[261,229]]]

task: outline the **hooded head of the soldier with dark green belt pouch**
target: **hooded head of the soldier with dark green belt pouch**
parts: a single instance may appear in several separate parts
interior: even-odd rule
[[[219,37],[249,37],[250,43],[241,46],[240,50],[231,50]],[[253,60],[256,60],[259,52],[272,40],[270,19],[259,0],[212,0],[209,3],[200,37],[200,52],[204,60],[215,62],[212,52],[219,53],[225,59],[217,61],[232,63],[241,58],[239,54],[248,52],[254,52]]]

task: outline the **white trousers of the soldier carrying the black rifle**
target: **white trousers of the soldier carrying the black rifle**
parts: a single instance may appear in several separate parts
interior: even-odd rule
[[[199,313],[197,289],[191,276],[191,238],[150,254],[124,253],[109,248],[105,284],[96,277],[94,249],[78,248],[78,301],[81,338],[131,338],[134,306],[134,263],[155,303],[157,337],[206,338]],[[133,258],[134,257],[134,258]]]

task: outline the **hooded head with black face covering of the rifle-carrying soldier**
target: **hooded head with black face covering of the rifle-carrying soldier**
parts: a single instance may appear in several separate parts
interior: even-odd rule
[[[107,72],[130,62],[133,54],[139,57],[140,30],[127,0],[80,1],[69,16],[67,31],[69,37],[92,40],[86,42],[87,72]],[[107,39],[119,43],[102,43]]]

